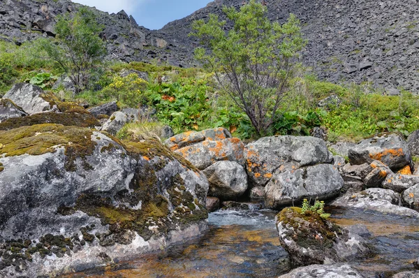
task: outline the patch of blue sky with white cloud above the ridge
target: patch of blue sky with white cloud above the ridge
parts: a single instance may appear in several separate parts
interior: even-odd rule
[[[207,6],[212,0],[73,0],[108,13],[125,10],[140,26],[161,29],[168,22],[179,20]]]

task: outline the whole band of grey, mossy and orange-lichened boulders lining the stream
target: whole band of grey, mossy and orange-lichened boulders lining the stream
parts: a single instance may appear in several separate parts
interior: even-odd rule
[[[85,110],[28,84],[1,98],[0,113],[0,277],[58,276],[159,251],[205,233],[220,205],[281,210],[279,240],[302,266],[284,277],[358,277],[345,263],[371,254],[360,236],[368,231],[287,206],[307,198],[419,219],[416,133],[408,142],[383,133],[358,144],[244,144],[218,128],[121,141],[112,133],[155,111]]]

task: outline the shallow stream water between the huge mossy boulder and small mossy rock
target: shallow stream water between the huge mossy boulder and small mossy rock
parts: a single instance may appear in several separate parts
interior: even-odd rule
[[[209,231],[195,242],[114,268],[66,277],[277,277],[290,270],[272,210],[211,213]]]

